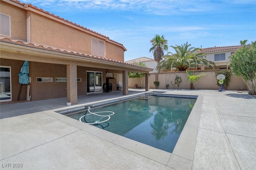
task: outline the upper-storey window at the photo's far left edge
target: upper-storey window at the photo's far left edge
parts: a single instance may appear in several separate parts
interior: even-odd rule
[[[11,36],[11,17],[0,13],[0,34],[3,36]]]

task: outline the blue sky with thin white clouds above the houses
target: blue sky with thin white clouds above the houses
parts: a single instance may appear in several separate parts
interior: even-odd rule
[[[256,40],[255,0],[20,0],[122,43],[124,60],[153,57],[156,34],[168,46],[240,45]],[[174,52],[172,47],[168,51]],[[165,51],[165,54],[167,51]]]

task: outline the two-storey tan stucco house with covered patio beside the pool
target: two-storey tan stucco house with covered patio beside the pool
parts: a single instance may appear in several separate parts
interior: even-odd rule
[[[128,71],[146,73],[149,90],[152,69],[125,63],[124,51],[121,43],[36,6],[0,0],[1,102],[26,100],[17,75],[24,61],[32,101],[67,97],[76,104],[78,95],[104,92],[105,83],[116,90],[118,81],[128,95]]]

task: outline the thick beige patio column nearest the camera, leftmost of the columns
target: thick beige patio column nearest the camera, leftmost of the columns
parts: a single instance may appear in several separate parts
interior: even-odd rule
[[[67,65],[67,98],[72,105],[77,104],[77,65]]]

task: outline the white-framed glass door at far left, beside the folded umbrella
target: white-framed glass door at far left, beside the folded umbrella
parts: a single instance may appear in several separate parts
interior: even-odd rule
[[[0,66],[0,102],[12,101],[11,67]]]

